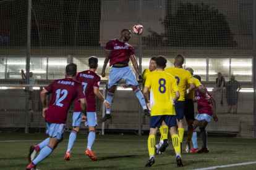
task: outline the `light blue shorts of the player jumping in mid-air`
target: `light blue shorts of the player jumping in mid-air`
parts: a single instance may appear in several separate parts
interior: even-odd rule
[[[114,85],[117,86],[118,82],[121,79],[125,79],[126,84],[128,85],[139,86],[139,83],[137,82],[136,76],[132,71],[132,68],[130,68],[129,66],[122,68],[112,67],[108,78],[108,89]]]

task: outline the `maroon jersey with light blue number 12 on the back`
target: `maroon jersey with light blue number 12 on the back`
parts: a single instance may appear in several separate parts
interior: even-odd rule
[[[45,113],[45,121],[51,123],[65,124],[70,105],[75,99],[85,99],[82,84],[72,78],[56,79],[45,91],[51,93],[49,107]]]

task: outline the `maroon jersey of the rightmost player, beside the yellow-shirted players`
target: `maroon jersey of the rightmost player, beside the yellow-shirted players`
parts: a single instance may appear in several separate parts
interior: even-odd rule
[[[205,87],[204,87],[205,88]],[[210,92],[207,91],[207,94],[211,97]],[[210,100],[207,100],[205,94],[203,94],[199,89],[195,89],[195,100],[197,100],[197,110],[200,114],[213,115],[213,107],[211,107]]]

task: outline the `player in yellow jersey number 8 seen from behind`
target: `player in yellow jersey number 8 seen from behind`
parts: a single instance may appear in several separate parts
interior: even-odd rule
[[[179,91],[177,89],[176,79],[164,71],[166,63],[166,57],[156,57],[156,72],[148,75],[143,89],[143,96],[147,103],[147,107],[151,108],[150,134],[148,137],[150,160],[148,160],[146,167],[152,166],[155,163],[156,132],[161,125],[168,126],[171,138],[173,139],[174,150],[176,152],[177,166],[183,166],[174,108],[174,103],[179,99]],[[151,89],[150,101],[148,100],[149,88]],[[175,94],[173,95],[174,97],[172,97],[172,94]],[[167,135],[168,134],[166,133],[166,138]]]

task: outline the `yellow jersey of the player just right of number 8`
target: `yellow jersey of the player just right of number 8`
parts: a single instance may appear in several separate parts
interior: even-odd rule
[[[191,74],[187,70],[183,70],[182,68],[166,68],[164,71],[173,75],[177,81],[177,87],[179,89],[179,101],[185,101],[185,87],[186,83],[194,83]]]

